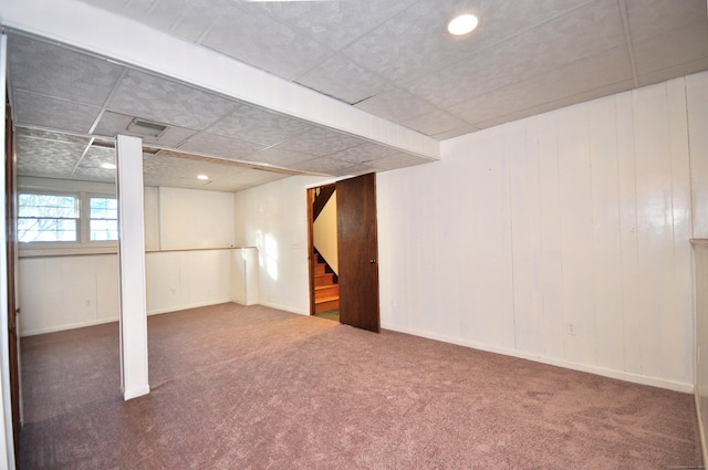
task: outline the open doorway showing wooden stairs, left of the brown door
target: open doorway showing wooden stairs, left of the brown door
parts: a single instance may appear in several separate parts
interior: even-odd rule
[[[335,185],[308,189],[310,314],[340,321]]]

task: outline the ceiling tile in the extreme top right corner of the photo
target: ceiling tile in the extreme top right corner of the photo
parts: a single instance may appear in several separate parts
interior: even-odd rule
[[[706,24],[705,0],[624,0],[632,41],[641,42],[649,38],[681,30],[696,21]]]

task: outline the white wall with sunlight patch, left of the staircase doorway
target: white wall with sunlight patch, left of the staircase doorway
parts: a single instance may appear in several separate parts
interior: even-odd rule
[[[310,314],[306,189],[324,182],[294,176],[236,194],[237,246],[259,249],[260,304]]]

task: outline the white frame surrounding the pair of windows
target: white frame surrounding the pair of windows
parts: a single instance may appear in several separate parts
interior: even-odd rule
[[[20,195],[46,195],[46,196],[73,196],[79,201],[79,218],[76,219],[75,241],[19,241],[20,250],[44,250],[44,249],[81,249],[81,248],[116,248],[118,240],[91,240],[91,199],[115,199],[115,194],[96,191],[67,191],[62,189],[20,189],[18,190],[18,203]],[[119,201],[118,201],[119,203]],[[20,220],[18,211],[18,221]],[[95,219],[100,220],[100,219]],[[113,219],[107,219],[113,220]],[[117,220],[117,217],[116,217]],[[19,237],[18,237],[19,238]],[[118,231],[119,238],[119,231]]]

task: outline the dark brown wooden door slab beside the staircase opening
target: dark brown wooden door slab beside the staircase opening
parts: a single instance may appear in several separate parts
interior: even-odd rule
[[[340,322],[378,333],[376,175],[336,182]]]

